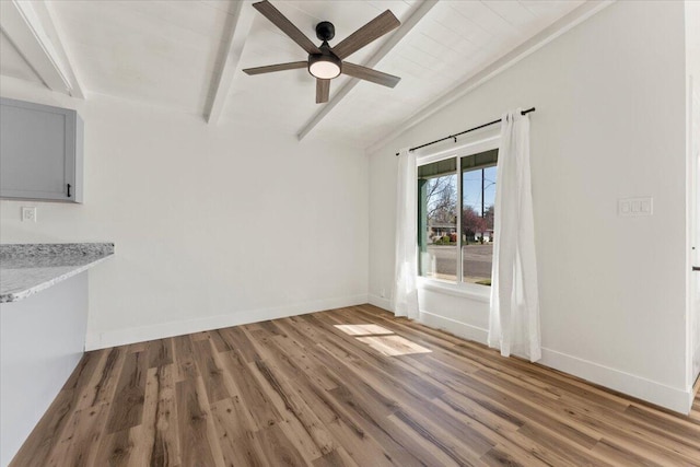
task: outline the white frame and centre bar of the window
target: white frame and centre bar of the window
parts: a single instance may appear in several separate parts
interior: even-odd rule
[[[424,276],[419,276],[417,272],[417,284],[421,287],[423,290],[434,291],[439,293],[447,293],[450,295],[456,296],[465,296],[469,299],[476,299],[478,301],[485,301],[491,296],[491,288],[479,285],[476,283],[464,282],[464,266],[462,258],[462,210],[463,210],[463,199],[462,199],[462,164],[460,157],[478,154],[485,151],[490,151],[493,149],[500,149],[501,136],[498,129],[488,130],[480,132],[477,136],[471,138],[466,138],[464,141],[459,141],[455,145],[452,145],[448,149],[438,149],[438,150],[419,150],[416,154],[416,168],[432,164],[434,162],[444,161],[447,159],[456,159],[456,174],[458,178],[457,183],[457,200],[459,202],[459,208],[457,209],[457,252],[458,252],[458,260],[457,260],[457,270],[456,270],[456,281],[445,281],[440,279],[428,278]],[[480,168],[480,167],[479,167]],[[475,168],[475,170],[479,170]],[[418,200],[417,200],[418,201]],[[418,203],[417,203],[418,209]],[[418,238],[416,242],[416,258],[420,261],[420,245],[418,244]]]

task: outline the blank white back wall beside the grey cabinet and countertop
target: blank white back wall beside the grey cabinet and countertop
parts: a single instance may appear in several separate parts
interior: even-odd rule
[[[1,201],[0,240],[115,243],[91,273],[89,349],[366,301],[361,150],[5,77],[0,94],[84,119],[84,203]]]

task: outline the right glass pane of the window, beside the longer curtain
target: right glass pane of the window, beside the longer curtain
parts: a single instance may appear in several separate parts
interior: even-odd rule
[[[463,157],[462,161],[463,281],[481,285],[491,285],[497,170],[494,165],[481,168],[467,167],[474,166],[470,163],[477,157],[485,159],[491,152]],[[495,154],[495,151],[489,154],[493,162]]]

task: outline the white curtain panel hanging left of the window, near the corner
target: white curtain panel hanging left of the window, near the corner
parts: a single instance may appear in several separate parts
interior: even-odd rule
[[[396,316],[418,319],[418,178],[416,155],[408,148],[398,155],[398,178],[396,190],[396,268],[393,307]]]

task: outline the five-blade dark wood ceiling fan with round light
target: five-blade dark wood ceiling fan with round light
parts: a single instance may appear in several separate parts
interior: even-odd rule
[[[316,46],[269,1],[264,0],[258,3],[253,3],[253,7],[306,50],[308,59],[289,63],[269,65],[267,67],[247,68],[243,70],[245,73],[260,74],[306,68],[308,72],[316,78],[316,104],[328,102],[330,80],[339,77],[340,73],[388,87],[394,87],[400,81],[398,77],[345,61],[346,57],[354,54],[365,45],[382,37],[401,24],[389,10],[386,10],[360,27],[335,47],[330,47],[328,40],[332,39],[336,35],[336,28],[332,23],[322,21],[316,25],[316,37],[323,40],[323,44]]]

